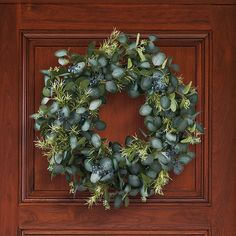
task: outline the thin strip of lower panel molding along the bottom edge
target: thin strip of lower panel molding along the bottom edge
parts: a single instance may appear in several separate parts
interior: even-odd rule
[[[31,236],[31,235],[37,235],[37,236],[43,236],[43,235],[50,235],[50,236],[72,236],[72,235],[157,235],[157,236],[209,236],[209,230],[119,230],[119,231],[110,231],[110,230],[65,230],[65,231],[57,231],[57,230],[22,230],[20,231],[21,236]]]

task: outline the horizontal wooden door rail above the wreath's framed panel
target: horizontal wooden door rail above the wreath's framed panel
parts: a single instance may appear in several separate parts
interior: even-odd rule
[[[91,5],[33,5],[25,4],[19,8],[20,27],[24,29],[80,29],[111,30],[117,27],[123,31],[153,30],[206,30],[209,25],[209,6],[152,4],[104,4]],[[158,10],[158,16],[156,14]],[[168,13],[168,14],[167,14]],[[189,15],[191,14],[191,17]],[[63,16],[70,16],[65,18]],[[37,19],[37,21],[34,21]],[[98,20],[99,19],[99,20]],[[109,20],[106,20],[109,19]],[[184,19],[184,20],[183,20]],[[194,19],[194,20],[193,20]],[[96,25],[96,27],[95,27]],[[91,32],[90,31],[90,32]]]

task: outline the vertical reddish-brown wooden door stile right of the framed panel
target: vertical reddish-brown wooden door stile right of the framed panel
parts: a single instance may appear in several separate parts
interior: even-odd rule
[[[226,14],[227,12],[227,14]],[[236,6],[211,11],[213,41],[213,235],[236,234]],[[222,17],[224,21],[222,21]],[[222,34],[222,32],[225,32]]]

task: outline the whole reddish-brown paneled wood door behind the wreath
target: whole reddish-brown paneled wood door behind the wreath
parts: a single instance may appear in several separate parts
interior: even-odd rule
[[[233,0],[0,1],[0,235],[236,235],[235,14]],[[54,51],[84,53],[113,27],[159,36],[198,88],[206,131],[196,159],[172,176],[165,196],[88,210],[86,194],[73,198],[63,177],[51,181],[29,115],[40,103],[39,71],[57,63]],[[103,135],[123,142],[134,134],[141,102],[111,96]]]

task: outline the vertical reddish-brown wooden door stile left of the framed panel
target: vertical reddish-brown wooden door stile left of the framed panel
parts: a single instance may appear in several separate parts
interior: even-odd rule
[[[0,7],[0,235],[16,235],[18,205],[19,83],[16,7]]]

